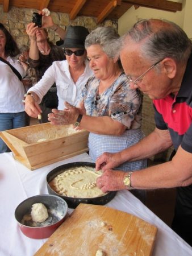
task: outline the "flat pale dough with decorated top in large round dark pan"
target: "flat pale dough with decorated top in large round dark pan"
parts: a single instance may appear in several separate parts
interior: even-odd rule
[[[91,167],[74,167],[57,175],[50,183],[50,187],[62,196],[93,198],[103,196],[105,193],[96,185],[96,172]]]

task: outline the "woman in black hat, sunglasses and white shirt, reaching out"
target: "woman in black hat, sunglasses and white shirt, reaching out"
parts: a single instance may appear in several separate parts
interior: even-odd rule
[[[66,30],[64,49],[66,60],[54,61],[45,71],[42,79],[28,90],[24,98],[25,111],[31,117],[41,113],[40,102],[45,93],[55,82],[59,99],[58,109],[65,108],[64,102],[77,106],[82,88],[93,75],[86,60],[85,39],[89,34],[87,28],[82,26],[69,26]]]

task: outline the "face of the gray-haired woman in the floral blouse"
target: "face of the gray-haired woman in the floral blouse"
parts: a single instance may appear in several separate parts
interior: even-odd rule
[[[115,65],[114,60],[103,52],[99,44],[93,44],[87,48],[87,59],[97,79],[105,80],[111,76]]]

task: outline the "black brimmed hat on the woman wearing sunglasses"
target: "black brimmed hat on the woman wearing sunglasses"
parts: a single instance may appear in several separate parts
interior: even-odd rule
[[[85,39],[89,35],[86,27],[82,26],[68,26],[64,43],[61,44],[62,48],[85,48]]]

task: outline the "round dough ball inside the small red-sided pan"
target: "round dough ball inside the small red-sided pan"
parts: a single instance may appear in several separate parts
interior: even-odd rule
[[[44,204],[36,203],[32,205],[31,209],[32,221],[43,222],[49,217],[47,208]]]

